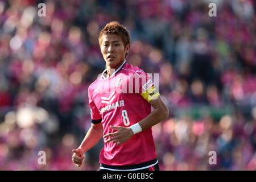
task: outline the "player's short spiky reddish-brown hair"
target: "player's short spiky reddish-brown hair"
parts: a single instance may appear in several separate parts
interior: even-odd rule
[[[130,33],[125,26],[118,23],[117,21],[109,22],[104,28],[100,31],[98,35],[98,43],[101,45],[101,36],[102,35],[119,35],[122,38],[123,44],[125,47],[130,44]],[[127,56],[127,53],[125,57]]]

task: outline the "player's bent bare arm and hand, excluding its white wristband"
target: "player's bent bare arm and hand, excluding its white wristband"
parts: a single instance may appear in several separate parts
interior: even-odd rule
[[[169,110],[167,106],[163,103],[162,98],[158,96],[156,99],[153,99],[149,102],[151,106],[154,107],[154,111],[147,115],[146,118],[139,121],[139,125],[142,128],[142,131],[149,129],[150,127],[156,125],[157,123],[166,119],[169,115]],[[117,130],[114,133],[106,134],[103,138],[112,137],[105,141],[105,143],[113,141],[113,143],[117,142],[117,145],[125,143],[131,137],[133,137],[134,133],[130,127],[122,127],[122,126],[110,126],[112,129]]]

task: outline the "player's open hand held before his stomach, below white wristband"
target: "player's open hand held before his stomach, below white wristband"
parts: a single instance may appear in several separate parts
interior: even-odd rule
[[[110,128],[117,131],[114,133],[104,135],[103,138],[111,137],[108,140],[106,140],[105,143],[113,141],[113,143],[117,143],[117,145],[119,146],[125,143],[134,135],[133,130],[131,130],[130,127],[110,126]]]

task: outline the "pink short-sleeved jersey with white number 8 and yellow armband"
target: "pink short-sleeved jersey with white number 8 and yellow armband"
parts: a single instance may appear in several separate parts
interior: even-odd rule
[[[110,126],[129,127],[147,117],[151,113],[148,102],[159,95],[151,77],[126,61],[112,76],[106,78],[105,72],[88,88],[92,123],[101,122],[104,135],[116,131]],[[105,143],[100,153],[101,168],[106,169],[143,169],[157,162],[151,128],[120,146]]]

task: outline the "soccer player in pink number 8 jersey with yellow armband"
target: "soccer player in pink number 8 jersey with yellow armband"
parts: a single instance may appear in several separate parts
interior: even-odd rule
[[[73,150],[73,163],[80,167],[84,153],[103,136],[100,170],[159,170],[151,127],[168,117],[167,106],[151,77],[126,63],[130,35],[125,27],[110,22],[98,40],[106,69],[88,88],[92,126]]]

